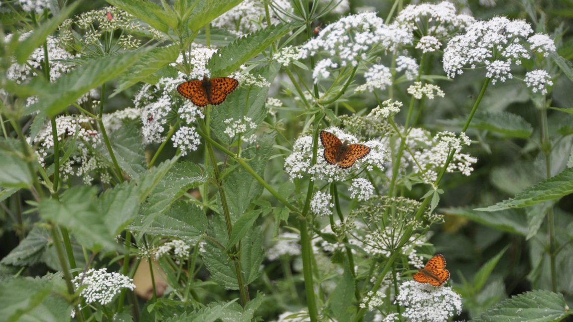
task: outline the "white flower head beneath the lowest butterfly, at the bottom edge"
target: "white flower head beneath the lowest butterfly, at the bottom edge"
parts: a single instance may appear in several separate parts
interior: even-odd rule
[[[461,296],[452,288],[413,280],[400,284],[396,301],[405,308],[402,317],[412,322],[449,321],[462,311]]]

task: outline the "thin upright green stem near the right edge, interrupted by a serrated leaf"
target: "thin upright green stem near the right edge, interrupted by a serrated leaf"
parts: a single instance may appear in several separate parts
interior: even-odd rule
[[[545,157],[545,176],[551,178],[551,141],[549,137],[549,125],[547,123],[547,106],[540,106],[541,123],[541,152]],[[549,233],[549,259],[551,267],[551,291],[557,292],[557,269],[555,264],[556,242],[555,242],[555,218],[553,206],[547,211],[547,225]]]

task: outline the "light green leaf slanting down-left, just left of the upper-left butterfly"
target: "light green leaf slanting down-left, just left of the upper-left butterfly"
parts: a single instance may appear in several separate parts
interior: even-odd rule
[[[179,47],[175,45],[154,48],[138,62],[129,67],[127,72],[117,80],[117,86],[110,97],[116,96],[123,90],[145,81],[149,75],[174,62],[179,55]]]

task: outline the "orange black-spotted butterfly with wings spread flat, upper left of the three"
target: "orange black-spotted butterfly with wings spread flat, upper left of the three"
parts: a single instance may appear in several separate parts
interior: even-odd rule
[[[219,105],[227,94],[237,88],[239,81],[230,77],[207,78],[203,76],[201,81],[188,81],[177,86],[177,92],[183,97],[189,98],[197,106]]]

